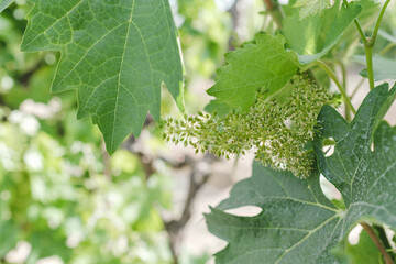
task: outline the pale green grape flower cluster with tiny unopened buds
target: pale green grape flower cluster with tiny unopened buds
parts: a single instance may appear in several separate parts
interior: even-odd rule
[[[198,112],[184,120],[163,121],[163,139],[230,158],[254,152],[263,165],[287,169],[308,177],[315,156],[309,142],[317,130],[317,117],[324,105],[336,105],[339,95],[296,75],[292,92],[284,100],[257,91],[255,102],[245,112],[232,110],[226,116]]]

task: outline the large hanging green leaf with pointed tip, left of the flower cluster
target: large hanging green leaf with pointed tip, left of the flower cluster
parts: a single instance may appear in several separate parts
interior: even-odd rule
[[[78,118],[91,117],[113,153],[147,112],[160,119],[165,82],[183,109],[183,68],[167,0],[31,0],[25,52],[62,58],[52,91],[76,89]]]

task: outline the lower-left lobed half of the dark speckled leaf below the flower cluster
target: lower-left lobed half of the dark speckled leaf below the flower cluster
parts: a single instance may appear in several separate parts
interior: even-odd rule
[[[206,216],[209,230],[229,242],[217,263],[331,263],[328,249],[340,239],[341,211],[321,193],[318,178],[302,180],[254,163],[253,176]],[[242,206],[263,211],[256,217],[222,211]]]

